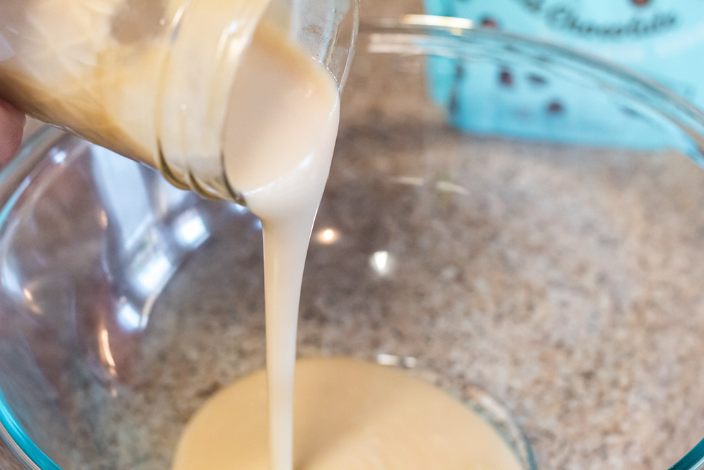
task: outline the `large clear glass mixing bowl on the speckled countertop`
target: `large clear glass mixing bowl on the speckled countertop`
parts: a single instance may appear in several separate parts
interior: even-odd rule
[[[703,114],[591,58],[465,26],[363,25],[299,354],[408,369],[527,469],[698,468]],[[477,70],[569,86],[584,112],[517,116],[530,132],[541,113],[574,118],[591,145],[463,132],[448,122],[469,98],[430,99],[436,70],[450,90]],[[621,120],[587,112],[596,101]],[[624,143],[634,133],[659,150]],[[0,178],[0,467],[168,468],[196,409],[264,366],[258,219],[51,128]]]

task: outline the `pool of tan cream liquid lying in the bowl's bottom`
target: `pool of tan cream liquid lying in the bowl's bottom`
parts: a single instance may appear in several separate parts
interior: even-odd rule
[[[267,385],[258,371],[189,423],[174,470],[268,470]],[[441,390],[353,359],[296,363],[296,470],[520,470],[508,445]]]

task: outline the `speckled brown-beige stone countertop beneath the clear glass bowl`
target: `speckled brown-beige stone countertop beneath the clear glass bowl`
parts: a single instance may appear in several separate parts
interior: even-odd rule
[[[363,6],[401,11],[420,4]],[[458,397],[486,390],[540,469],[667,469],[704,437],[704,171],[674,153],[464,135],[427,102],[423,66],[358,56],[299,353],[413,357]],[[168,468],[200,404],[264,365],[259,248],[256,219],[230,214],[144,333],[111,343],[114,387],[75,385],[66,400],[91,419],[66,433],[95,454],[75,468]]]

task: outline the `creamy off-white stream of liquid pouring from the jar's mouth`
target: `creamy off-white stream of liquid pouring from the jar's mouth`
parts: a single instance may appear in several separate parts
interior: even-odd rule
[[[263,228],[271,470],[293,468],[298,302],[338,123],[332,75],[259,27],[234,81],[224,142],[227,178]]]

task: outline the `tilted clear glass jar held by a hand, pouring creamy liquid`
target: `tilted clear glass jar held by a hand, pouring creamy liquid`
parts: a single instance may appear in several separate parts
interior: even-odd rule
[[[225,178],[222,127],[260,21],[288,32],[342,86],[355,0],[4,0],[0,98],[177,187],[244,203]]]

